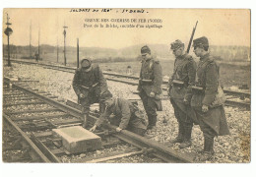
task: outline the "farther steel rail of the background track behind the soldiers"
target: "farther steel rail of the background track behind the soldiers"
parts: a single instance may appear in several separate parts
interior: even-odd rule
[[[22,60],[11,60],[11,61],[16,62],[16,63],[26,63],[26,64],[33,64],[33,65],[47,66],[47,67],[51,67],[51,68],[61,68],[61,69],[72,70],[72,71],[76,70],[76,68],[73,68],[73,67],[49,65],[49,64],[35,63],[35,62],[22,61]],[[139,77],[135,77],[135,76],[122,75],[122,74],[109,73],[109,72],[103,72],[103,74],[104,75],[108,75],[108,76],[119,77],[119,78],[127,78],[127,79],[139,80]],[[121,82],[119,80],[110,79],[110,78],[108,78],[108,80],[112,80],[112,81],[116,81],[116,82]],[[127,82],[122,81],[122,82],[125,83],[125,84],[130,84],[130,85],[135,86],[133,82],[128,82],[128,81]],[[163,85],[168,85],[168,82],[167,81],[163,81],[162,84]],[[166,89],[164,89],[164,90],[166,90]],[[244,95],[245,97],[250,97],[251,96],[250,92],[242,92],[242,91],[236,91],[236,90],[230,90],[230,89],[224,89],[224,93],[230,94],[230,95]]]

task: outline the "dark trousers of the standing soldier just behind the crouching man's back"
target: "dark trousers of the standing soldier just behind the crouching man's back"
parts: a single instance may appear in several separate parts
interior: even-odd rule
[[[153,97],[147,95],[147,93],[142,90],[140,96],[143,102],[143,106],[148,115],[149,126],[156,126],[157,123],[157,104]]]

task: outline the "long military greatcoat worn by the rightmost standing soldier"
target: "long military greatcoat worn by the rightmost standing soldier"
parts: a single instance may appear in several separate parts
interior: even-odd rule
[[[209,53],[200,58],[197,68],[198,85],[203,91],[193,93],[191,106],[195,110],[198,119],[211,127],[216,135],[228,135],[228,127],[224,114],[224,106],[212,108],[210,105],[214,101],[219,87],[219,70],[214,57]],[[202,105],[209,106],[208,112],[202,112]]]

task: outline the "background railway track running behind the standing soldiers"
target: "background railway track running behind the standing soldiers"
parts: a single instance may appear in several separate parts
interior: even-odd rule
[[[49,64],[35,63],[35,62],[30,62],[30,61],[12,60],[12,62],[29,64],[29,65],[38,65],[38,66],[42,66],[44,68],[58,70],[58,71],[62,71],[62,72],[69,72],[69,73],[74,73],[76,70],[76,68],[74,68],[74,67],[49,65]],[[132,85],[132,86],[138,85],[139,78],[135,77],[135,76],[121,75],[121,74],[109,73],[109,72],[103,72],[103,74],[105,76],[107,76],[106,79],[109,81],[124,83],[124,84]],[[162,90],[164,91],[163,99],[168,99],[168,96],[166,93],[167,83],[168,83],[167,81],[163,81],[163,85],[162,85]],[[248,100],[245,101],[245,99],[250,99],[250,97],[251,97],[250,92],[242,92],[242,91],[224,89],[224,93],[226,94],[226,97],[227,97],[227,100],[225,101],[226,106],[241,107],[241,108],[250,110],[250,107],[251,107],[250,101],[248,101]]]

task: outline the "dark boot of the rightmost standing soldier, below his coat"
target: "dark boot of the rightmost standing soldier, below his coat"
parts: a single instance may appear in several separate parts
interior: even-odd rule
[[[200,157],[201,161],[210,160],[215,154],[214,141],[215,141],[214,138],[205,138],[205,147],[204,147],[205,150]]]

